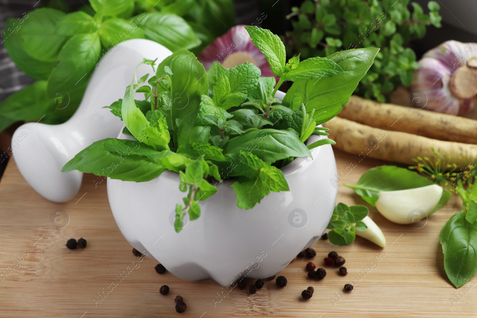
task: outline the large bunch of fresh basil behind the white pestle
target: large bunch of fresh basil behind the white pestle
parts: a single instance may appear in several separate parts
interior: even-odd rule
[[[90,0],[90,6],[73,13],[41,8],[19,21],[8,19],[5,48],[37,82],[0,103],[0,131],[17,121],[68,120],[99,59],[119,42],[145,38],[171,51],[206,45],[231,26],[234,11],[231,0],[205,2]],[[214,14],[227,25],[215,26]]]

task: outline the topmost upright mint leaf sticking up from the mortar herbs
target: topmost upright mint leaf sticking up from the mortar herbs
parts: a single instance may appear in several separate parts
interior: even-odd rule
[[[265,55],[270,69],[276,76],[281,76],[285,70],[286,52],[285,45],[280,37],[270,30],[256,26],[246,26],[253,44]]]

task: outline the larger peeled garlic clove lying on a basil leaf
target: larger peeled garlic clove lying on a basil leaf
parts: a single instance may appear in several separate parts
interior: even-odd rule
[[[415,189],[380,191],[376,209],[389,221],[411,224],[430,215],[444,190],[439,185]]]

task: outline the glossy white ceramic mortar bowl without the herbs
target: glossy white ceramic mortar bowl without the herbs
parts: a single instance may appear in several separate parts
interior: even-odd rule
[[[307,144],[320,138],[311,136]],[[188,221],[186,216],[179,233],[174,208],[185,194],[174,172],[142,183],[108,178],[109,204],[129,243],[177,277],[210,277],[223,286],[239,277],[270,277],[311,246],[331,218],[337,195],[332,147],[311,154],[313,159],[297,158],[282,168],[290,191],[272,192],[249,210],[237,207],[233,181],[218,184],[218,192],[199,203],[200,217]]]

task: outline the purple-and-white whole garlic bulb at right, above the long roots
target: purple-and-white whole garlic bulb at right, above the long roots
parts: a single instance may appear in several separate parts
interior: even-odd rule
[[[411,98],[416,106],[425,104],[425,109],[439,113],[471,110],[477,103],[477,43],[446,41],[425,53],[414,74]]]

